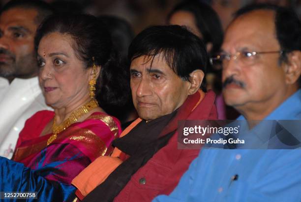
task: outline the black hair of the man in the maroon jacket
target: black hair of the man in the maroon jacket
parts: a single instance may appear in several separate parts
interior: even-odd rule
[[[138,34],[128,49],[128,60],[141,56],[162,54],[166,63],[183,80],[201,69],[206,74],[207,52],[204,43],[196,35],[179,25],[153,26]],[[206,90],[202,82],[202,90]]]

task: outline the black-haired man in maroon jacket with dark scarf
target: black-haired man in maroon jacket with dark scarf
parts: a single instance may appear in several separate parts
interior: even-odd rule
[[[98,158],[73,180],[83,201],[148,202],[169,194],[199,153],[177,148],[178,121],[217,117],[214,93],[202,90],[206,49],[185,28],[144,30],[128,58],[140,118],[114,141],[111,157]]]

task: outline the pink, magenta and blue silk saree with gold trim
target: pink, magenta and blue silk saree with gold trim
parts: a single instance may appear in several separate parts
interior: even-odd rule
[[[54,112],[39,111],[27,120],[13,156],[23,165],[0,159],[0,189],[37,191],[40,199],[65,201],[75,191],[71,180],[97,157],[109,155],[111,142],[121,132],[116,118],[95,112],[69,126],[47,146],[52,134],[39,135],[53,117]],[[5,178],[14,178],[15,183]]]

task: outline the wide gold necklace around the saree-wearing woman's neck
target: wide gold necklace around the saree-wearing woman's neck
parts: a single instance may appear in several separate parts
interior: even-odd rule
[[[84,114],[89,113],[92,109],[98,107],[98,103],[95,99],[92,99],[88,103],[84,104],[83,106],[79,107],[75,111],[70,114],[70,116],[64,120],[61,124],[56,124],[56,119],[53,121],[52,125],[52,134],[49,139],[47,140],[47,145],[53,142],[58,134],[68,128],[71,124],[75,123],[79,118],[81,118]]]

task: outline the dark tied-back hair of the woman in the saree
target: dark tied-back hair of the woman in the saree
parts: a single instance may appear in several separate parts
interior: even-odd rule
[[[96,80],[95,95],[99,105],[107,113],[110,113],[107,108],[123,106],[130,99],[129,84],[124,76],[125,69],[119,67],[111,36],[96,17],[86,14],[49,16],[36,32],[36,52],[41,38],[54,32],[71,36],[75,54],[84,62],[86,68],[92,67],[94,63],[101,67]]]

